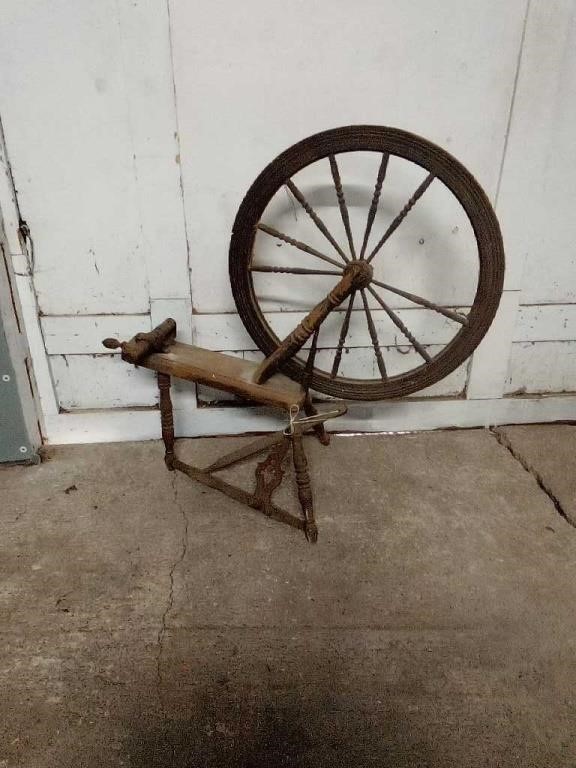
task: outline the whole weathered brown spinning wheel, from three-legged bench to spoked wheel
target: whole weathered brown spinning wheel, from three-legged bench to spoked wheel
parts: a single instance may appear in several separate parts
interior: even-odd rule
[[[346,194],[341,180],[342,158],[349,153],[373,153],[376,158],[375,184],[370,192],[370,204],[365,214],[361,240],[354,241],[353,226]],[[412,195],[388,223],[376,242],[371,242],[372,228],[377,218],[390,160],[419,166],[423,176]],[[342,246],[325,221],[310,204],[294,177],[303,169],[324,167],[331,177],[334,204],[337,206],[346,246]],[[409,212],[433,182],[443,184],[456,198],[469,220],[477,249],[478,274],[469,310],[435,302],[406,290],[405,287],[377,279],[373,260],[388,239],[396,232]],[[300,182],[299,182],[300,183]],[[329,244],[329,253],[316,245],[296,239],[293,232],[277,229],[266,220],[267,209],[279,190],[287,190],[302,207],[316,229]],[[383,191],[384,189],[384,191]],[[274,222],[275,223],[275,222]],[[293,263],[263,264],[258,259],[258,242],[263,233],[279,244],[288,244],[310,259],[310,267]],[[258,236],[258,237],[257,237]],[[373,238],[374,240],[375,238]],[[316,263],[314,263],[316,260]],[[322,269],[316,267],[322,261]],[[330,266],[330,269],[326,268]],[[256,179],[236,216],[230,244],[230,279],[239,315],[265,354],[262,363],[241,360],[220,352],[182,344],[176,341],[176,323],[167,319],[153,331],[137,334],[127,342],[105,339],[109,349],[120,347],[122,358],[134,365],[157,372],[160,389],[162,437],[166,449],[165,461],[170,470],[178,469],[204,485],[215,488],[248,506],[260,510],[293,527],[303,530],[314,542],[317,527],[308,464],[304,453],[303,435],[315,432],[322,443],[328,443],[324,422],[346,412],[341,403],[329,403],[324,413],[312,404],[310,391],[350,400],[380,400],[417,392],[440,381],[460,366],[484,337],[494,318],[502,293],[504,251],[500,229],[490,202],[474,177],[451,155],[414,134],[379,126],[350,126],[325,131],[295,144],[262,171]],[[320,301],[315,303],[304,319],[283,340],[270,326],[262,311],[255,275],[283,275],[300,279],[308,276],[329,278]],[[290,292],[288,291],[290,295]],[[441,315],[451,323],[453,335],[442,349],[432,353],[408,328],[399,312],[392,308],[387,295],[400,297],[415,307]],[[386,297],[386,298],[385,298]],[[359,299],[359,301],[357,300]],[[350,332],[356,302],[356,314],[365,317],[366,328],[373,347],[378,378],[350,378],[341,374],[341,362]],[[383,347],[378,337],[370,304],[384,310],[385,317],[406,339],[419,357],[415,367],[392,375],[388,372]],[[345,305],[345,311],[339,308]],[[333,347],[330,370],[316,366],[319,334],[323,323],[332,313],[342,315],[338,341]],[[310,342],[307,355],[303,348]],[[290,415],[290,427],[262,437],[248,446],[222,457],[200,469],[180,461],[174,453],[174,424],[170,398],[171,377],[206,384],[244,399],[275,406]],[[304,416],[300,417],[301,411]],[[292,449],[298,497],[303,517],[298,518],[277,507],[272,495],[283,477],[282,464]],[[253,493],[224,482],[215,475],[219,470],[268,451],[256,468]]]

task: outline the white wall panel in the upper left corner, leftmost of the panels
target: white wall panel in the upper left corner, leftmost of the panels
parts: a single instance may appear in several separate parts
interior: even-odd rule
[[[148,309],[117,15],[115,0],[3,14],[2,119],[45,314]]]

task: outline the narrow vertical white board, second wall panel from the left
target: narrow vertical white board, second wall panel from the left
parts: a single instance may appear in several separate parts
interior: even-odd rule
[[[149,296],[189,301],[168,7],[158,0],[115,7]]]

